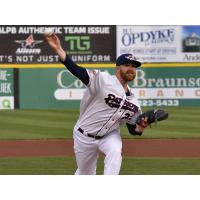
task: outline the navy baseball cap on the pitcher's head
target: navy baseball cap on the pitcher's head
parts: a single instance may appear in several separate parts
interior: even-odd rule
[[[116,60],[116,65],[134,64],[136,67],[141,66],[141,62],[137,61],[136,57],[130,53],[120,55]]]

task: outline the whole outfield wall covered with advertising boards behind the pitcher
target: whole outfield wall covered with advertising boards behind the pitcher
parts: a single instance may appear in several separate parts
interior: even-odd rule
[[[144,64],[130,83],[142,106],[200,106],[200,26],[52,26],[78,64],[115,72],[121,53]],[[45,26],[0,26],[0,109],[77,108],[84,85],[44,41]]]

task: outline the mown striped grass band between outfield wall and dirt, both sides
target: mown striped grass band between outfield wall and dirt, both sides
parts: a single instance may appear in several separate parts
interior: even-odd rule
[[[199,107],[165,109],[169,112],[168,120],[134,138],[200,138]],[[78,115],[78,109],[1,110],[0,139],[72,138]],[[126,127],[122,127],[121,133],[123,138],[133,138]]]

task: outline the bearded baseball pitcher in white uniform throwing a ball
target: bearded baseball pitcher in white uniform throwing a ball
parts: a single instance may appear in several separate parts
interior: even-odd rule
[[[66,68],[86,86],[73,131],[78,166],[75,174],[96,174],[99,151],[105,154],[104,174],[119,174],[122,162],[120,126],[126,124],[132,135],[142,135],[149,124],[167,117],[162,110],[141,114],[140,105],[128,86],[141,63],[132,54],[122,54],[116,60],[115,75],[88,70],[70,59],[57,35],[46,34],[45,38]]]

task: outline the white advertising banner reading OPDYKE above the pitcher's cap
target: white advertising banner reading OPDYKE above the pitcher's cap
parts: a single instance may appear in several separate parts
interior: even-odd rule
[[[117,56],[143,63],[199,62],[200,26],[117,26]]]

